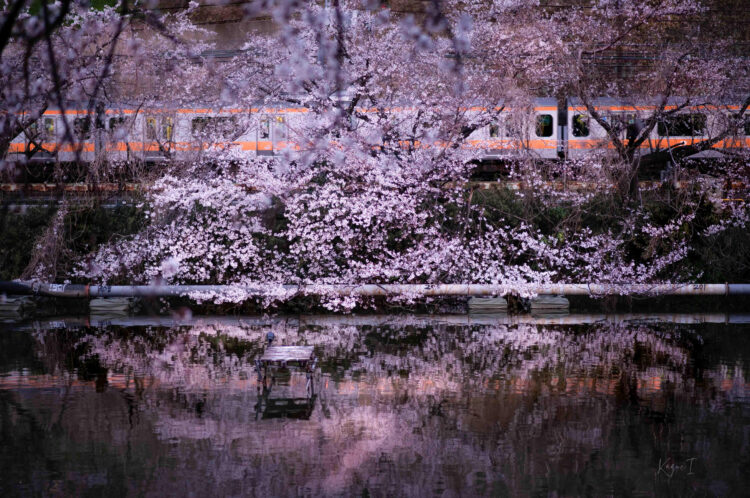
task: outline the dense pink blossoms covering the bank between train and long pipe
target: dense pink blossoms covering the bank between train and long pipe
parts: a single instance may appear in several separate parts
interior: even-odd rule
[[[145,228],[83,257],[75,276],[110,284],[265,287],[283,299],[274,292],[282,284],[521,288],[560,281],[736,282],[747,275],[741,261],[728,272],[721,254],[741,250],[745,206],[668,185],[644,192],[641,203],[618,205],[616,193],[544,191],[541,183],[520,193],[472,191],[456,183],[455,170],[424,178],[378,163],[283,173],[266,163],[212,168],[214,177],[203,169],[161,180],[144,206]],[[251,296],[238,290],[202,297]],[[357,298],[326,302],[351,308]]]

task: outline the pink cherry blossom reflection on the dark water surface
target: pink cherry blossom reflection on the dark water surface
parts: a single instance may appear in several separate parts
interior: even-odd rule
[[[659,458],[701,458],[705,469],[721,460],[705,444],[711,431],[738,430],[721,415],[747,396],[746,366],[698,371],[701,335],[684,326],[405,322],[275,326],[280,344],[314,345],[322,360],[318,407],[299,421],[255,421],[264,327],[108,329],[79,334],[73,346],[84,351],[79,361],[110,370],[110,390],[132,397],[136,424],[190,455],[169,473],[195,489],[241,481],[274,495],[289,486],[420,495],[467,485],[578,494],[584,481],[605,491],[597,486],[624,479],[653,491]],[[45,354],[50,335],[37,336]],[[304,392],[304,383],[293,373],[278,393]],[[698,417],[712,424],[702,440],[690,436]],[[107,441],[116,430],[88,437]]]

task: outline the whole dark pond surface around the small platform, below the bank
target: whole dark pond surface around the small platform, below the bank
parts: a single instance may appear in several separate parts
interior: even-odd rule
[[[746,495],[749,367],[747,324],[0,324],[0,495]]]

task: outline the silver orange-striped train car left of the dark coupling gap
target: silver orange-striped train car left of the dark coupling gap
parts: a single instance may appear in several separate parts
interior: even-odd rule
[[[388,112],[406,114],[409,110],[414,109],[397,107]],[[219,109],[112,106],[96,112],[70,108],[64,113],[51,109],[30,127],[29,136],[22,133],[13,140],[9,159],[190,161],[217,148],[235,149],[247,157],[274,156],[299,149],[309,139],[303,131],[308,112],[281,103]],[[529,107],[504,108],[497,123],[476,130],[464,147],[476,151],[480,160],[529,154],[554,159],[558,135],[556,102],[536,99]]]

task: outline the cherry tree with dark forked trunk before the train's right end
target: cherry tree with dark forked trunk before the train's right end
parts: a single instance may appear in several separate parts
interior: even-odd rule
[[[631,197],[642,169],[742,140],[750,105],[746,54],[707,29],[707,7],[696,0],[604,1],[560,9],[543,21],[554,40],[554,85],[576,97],[604,129],[625,166]],[[620,110],[602,110],[602,98],[614,99]],[[660,137],[705,139],[672,145],[653,139],[657,129]]]

